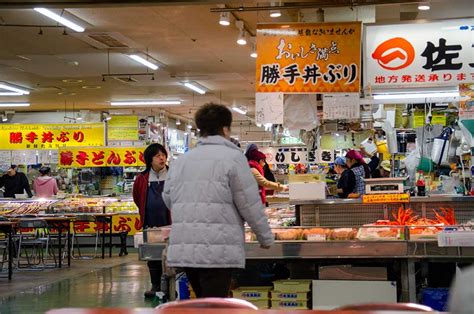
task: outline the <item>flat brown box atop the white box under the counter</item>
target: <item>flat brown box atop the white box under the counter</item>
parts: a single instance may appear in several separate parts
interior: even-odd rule
[[[351,265],[319,267],[320,280],[387,280],[385,267],[352,267]]]

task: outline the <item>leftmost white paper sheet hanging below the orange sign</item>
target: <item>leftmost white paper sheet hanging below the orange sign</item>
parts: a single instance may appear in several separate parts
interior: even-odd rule
[[[283,93],[255,94],[255,123],[283,124]]]

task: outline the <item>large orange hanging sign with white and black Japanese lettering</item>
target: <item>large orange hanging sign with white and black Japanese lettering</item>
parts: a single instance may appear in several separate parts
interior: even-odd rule
[[[359,22],[257,25],[256,91],[359,92],[360,41]]]

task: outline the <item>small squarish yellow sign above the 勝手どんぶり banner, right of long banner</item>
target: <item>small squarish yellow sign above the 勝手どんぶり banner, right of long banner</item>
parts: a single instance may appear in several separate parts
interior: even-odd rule
[[[107,122],[109,141],[138,141],[138,116],[112,116]]]

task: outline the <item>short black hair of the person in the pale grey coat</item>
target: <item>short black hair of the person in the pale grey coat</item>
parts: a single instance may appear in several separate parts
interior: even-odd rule
[[[194,121],[203,137],[223,135],[224,127],[232,125],[232,112],[226,106],[209,103],[199,108]]]

